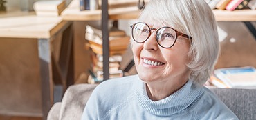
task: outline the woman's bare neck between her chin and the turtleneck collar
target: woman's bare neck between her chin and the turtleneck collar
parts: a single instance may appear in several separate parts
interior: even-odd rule
[[[170,96],[188,81],[188,78],[185,78],[186,79],[175,80],[177,82],[170,79],[167,81],[147,82],[146,90],[149,99],[152,99],[152,101],[158,101]]]

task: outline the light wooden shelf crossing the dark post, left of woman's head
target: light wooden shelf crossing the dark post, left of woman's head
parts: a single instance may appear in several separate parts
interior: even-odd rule
[[[136,19],[139,9],[136,6],[138,1],[109,1],[109,19]],[[100,21],[101,10],[79,9],[79,1],[73,0],[62,12],[64,21]]]

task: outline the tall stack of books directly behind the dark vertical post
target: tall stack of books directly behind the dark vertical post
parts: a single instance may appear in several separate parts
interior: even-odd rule
[[[91,76],[88,83],[100,83],[103,80],[103,57],[102,57],[102,31],[92,26],[86,26],[85,39],[87,46],[91,49],[91,59],[93,61]],[[129,47],[130,37],[125,31],[112,29],[109,32],[109,78],[123,77],[120,70],[122,54]]]

